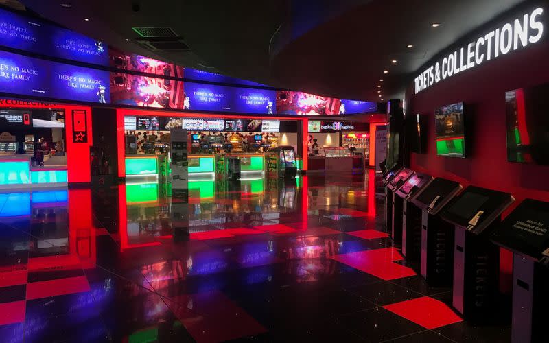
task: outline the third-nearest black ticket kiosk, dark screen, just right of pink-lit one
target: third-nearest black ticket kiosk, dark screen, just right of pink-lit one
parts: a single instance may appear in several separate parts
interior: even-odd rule
[[[462,188],[459,182],[434,178],[410,199],[421,211],[421,276],[432,286],[452,285],[454,226],[437,214]]]

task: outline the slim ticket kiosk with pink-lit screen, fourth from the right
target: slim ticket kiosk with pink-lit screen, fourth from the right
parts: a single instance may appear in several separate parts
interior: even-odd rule
[[[402,203],[402,255],[408,261],[419,260],[421,252],[421,210],[412,204],[410,199],[430,180],[432,180],[430,175],[414,172],[395,192],[399,198],[404,199]]]

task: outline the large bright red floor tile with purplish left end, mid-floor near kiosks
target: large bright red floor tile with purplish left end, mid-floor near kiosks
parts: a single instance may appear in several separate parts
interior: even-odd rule
[[[350,252],[330,258],[384,280],[416,275],[412,268],[393,263],[393,261],[404,259],[396,248]]]

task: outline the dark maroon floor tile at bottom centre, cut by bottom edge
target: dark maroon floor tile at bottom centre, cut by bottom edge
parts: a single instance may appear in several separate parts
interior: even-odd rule
[[[224,342],[267,331],[220,292],[176,296],[168,305],[198,343]]]

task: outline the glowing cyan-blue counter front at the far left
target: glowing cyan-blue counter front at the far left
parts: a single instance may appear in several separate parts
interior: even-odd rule
[[[66,165],[33,167],[31,155],[0,156],[0,189],[67,185]]]

